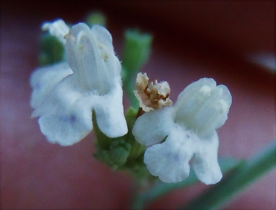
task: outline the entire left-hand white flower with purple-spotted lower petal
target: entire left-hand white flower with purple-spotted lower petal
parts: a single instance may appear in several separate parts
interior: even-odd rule
[[[110,33],[102,26],[90,29],[84,23],[69,30],[63,20],[46,23],[43,29],[64,43],[67,62],[32,74],[32,117],[39,117],[41,132],[50,142],[72,145],[92,130],[95,110],[106,136],[125,135],[121,65]]]

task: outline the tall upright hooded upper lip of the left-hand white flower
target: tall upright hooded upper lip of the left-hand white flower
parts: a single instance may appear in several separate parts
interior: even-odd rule
[[[120,75],[121,65],[110,43],[111,35],[106,35],[109,32],[102,29],[105,33],[101,41],[98,40],[99,34],[95,35],[93,32],[93,29],[99,27],[92,27],[90,30],[84,23],[74,25],[66,36],[65,50],[67,61],[79,78],[81,86],[104,95],[113,87],[114,77]]]

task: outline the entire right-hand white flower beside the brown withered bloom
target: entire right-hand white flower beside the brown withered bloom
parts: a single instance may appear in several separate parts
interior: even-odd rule
[[[231,103],[226,86],[202,78],[186,87],[175,105],[140,116],[132,133],[139,143],[150,146],[144,155],[149,172],[163,182],[179,182],[188,177],[190,162],[203,183],[220,181],[216,129],[226,121]]]

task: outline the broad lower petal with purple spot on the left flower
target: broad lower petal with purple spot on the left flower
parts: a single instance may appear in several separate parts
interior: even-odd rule
[[[41,132],[52,143],[72,145],[92,130],[92,98],[76,86],[74,74],[62,80],[34,112]],[[89,100],[88,100],[89,99]]]

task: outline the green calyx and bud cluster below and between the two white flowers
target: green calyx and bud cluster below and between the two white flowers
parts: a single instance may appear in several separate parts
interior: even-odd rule
[[[97,151],[93,156],[114,170],[124,170],[139,182],[155,180],[146,168],[144,153],[146,147],[139,144],[132,128],[137,119],[137,110],[130,107],[126,113],[128,133],[118,138],[109,138],[104,135],[97,125],[95,112],[92,112],[93,129],[96,134],[95,146]]]

